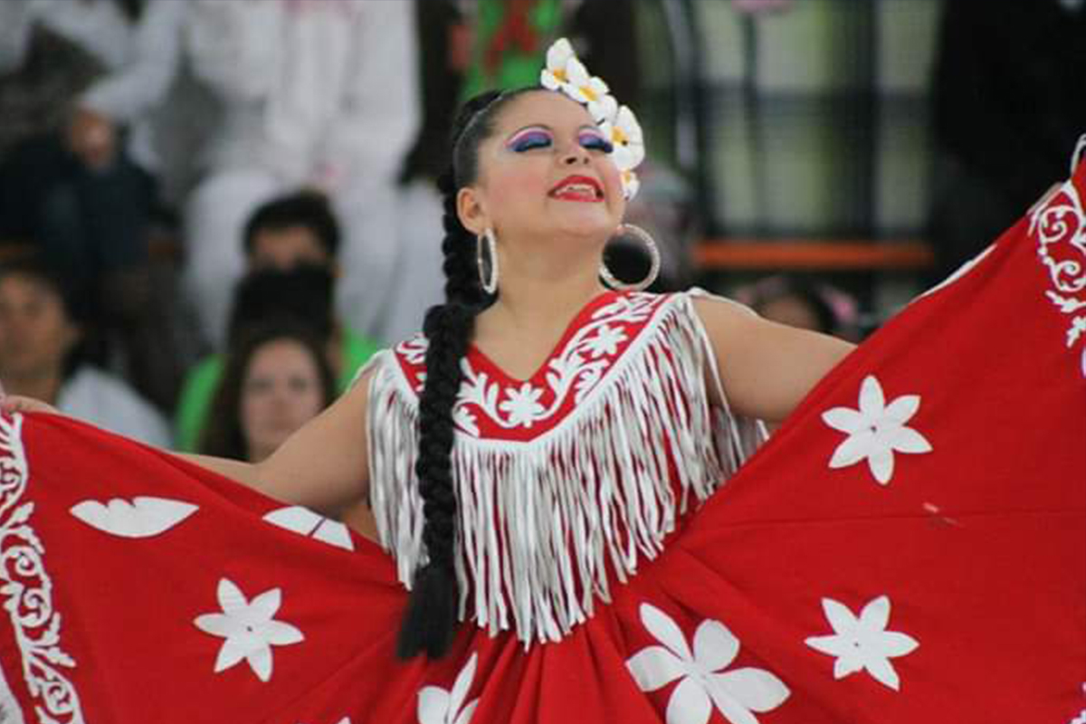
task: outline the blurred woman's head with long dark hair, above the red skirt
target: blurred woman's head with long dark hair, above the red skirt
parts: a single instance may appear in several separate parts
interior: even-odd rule
[[[334,398],[311,330],[290,319],[255,327],[226,355],[199,452],[260,462]]]

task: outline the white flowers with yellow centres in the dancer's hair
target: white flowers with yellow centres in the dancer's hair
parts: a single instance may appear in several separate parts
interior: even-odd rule
[[[588,107],[593,120],[614,147],[610,155],[622,175],[622,195],[628,201],[633,199],[641,186],[633,169],[645,158],[644,136],[633,111],[618,104],[607,84],[589,75],[566,38],[555,40],[547,49],[546,66],[540,73],[540,84]]]

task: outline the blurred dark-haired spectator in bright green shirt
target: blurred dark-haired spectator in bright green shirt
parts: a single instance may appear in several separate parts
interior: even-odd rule
[[[307,267],[310,274],[303,275],[304,278],[315,279],[316,287],[327,284],[327,290],[316,290],[315,315],[311,312],[295,312],[295,316],[301,315],[306,325],[317,325],[318,319],[328,320],[327,332],[317,330],[316,333],[325,340],[337,390],[345,390],[355,371],[377,352],[378,346],[352,331],[334,316],[332,284],[338,272],[336,254],[339,250],[339,226],[327,200],[319,193],[301,192],[269,201],[258,207],[247,221],[243,244],[249,274],[247,279],[262,270],[280,271],[289,276],[293,269]],[[290,281],[287,279],[283,283]],[[266,318],[272,308],[286,307],[288,313],[291,309],[305,309],[305,299],[289,297],[302,294],[312,299],[314,287],[307,285],[304,279],[293,281],[301,291],[269,289],[265,301],[253,302],[248,308],[240,309],[238,307],[242,304],[240,300],[243,296],[240,290],[248,283],[242,281],[236,290],[229,335],[232,338],[235,331],[249,321]],[[321,301],[325,296],[327,303]],[[223,357],[216,354],[199,361],[186,377],[174,419],[179,449],[190,453],[195,450],[222,374]]]

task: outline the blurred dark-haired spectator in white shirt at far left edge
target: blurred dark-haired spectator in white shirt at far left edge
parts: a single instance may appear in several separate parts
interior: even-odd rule
[[[71,417],[150,445],[166,420],[126,382],[80,360],[83,332],[59,278],[36,259],[0,267],[0,380]]]

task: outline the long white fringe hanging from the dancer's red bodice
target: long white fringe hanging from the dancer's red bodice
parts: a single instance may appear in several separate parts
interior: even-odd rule
[[[457,433],[460,620],[470,599],[492,635],[513,627],[526,646],[559,640],[592,615],[596,596],[610,600],[610,570],[624,582],[735,472],[763,436],[710,408],[710,350],[690,296],[675,295],[557,428],[526,443]],[[370,505],[409,588],[426,561],[417,396],[391,353],[370,369]]]

